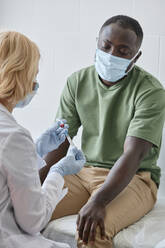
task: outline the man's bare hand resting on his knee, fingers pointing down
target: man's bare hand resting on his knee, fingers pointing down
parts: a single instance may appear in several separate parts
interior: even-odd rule
[[[79,238],[87,244],[94,242],[96,228],[100,227],[101,238],[105,237],[104,227],[105,207],[97,205],[94,201],[89,201],[81,208],[77,218],[77,230]]]

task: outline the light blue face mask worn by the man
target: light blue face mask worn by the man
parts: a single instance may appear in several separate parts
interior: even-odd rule
[[[95,56],[96,71],[102,79],[115,83],[127,75],[126,70],[136,55],[132,59],[125,59],[105,53],[97,48]]]

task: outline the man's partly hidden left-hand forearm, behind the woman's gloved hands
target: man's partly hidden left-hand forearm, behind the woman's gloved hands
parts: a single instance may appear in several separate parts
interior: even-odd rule
[[[45,156],[44,160],[46,161],[47,165],[42,169],[40,169],[39,171],[41,184],[44,182],[51,166],[56,164],[61,158],[63,158],[66,155],[68,148],[69,148],[69,142],[66,139],[66,141],[63,144],[61,144],[57,150],[49,152]]]

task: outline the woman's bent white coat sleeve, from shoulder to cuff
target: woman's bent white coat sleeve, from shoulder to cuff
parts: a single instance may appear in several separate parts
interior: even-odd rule
[[[40,232],[59,202],[63,177],[49,174],[41,187],[35,145],[22,130],[8,137],[1,156],[17,224],[29,234]]]

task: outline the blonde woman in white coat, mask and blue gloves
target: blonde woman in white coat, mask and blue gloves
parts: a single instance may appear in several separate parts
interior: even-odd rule
[[[17,32],[0,33],[0,247],[69,247],[44,239],[40,231],[63,197],[63,176],[79,172],[81,151],[71,148],[53,165],[41,186],[38,161],[64,142],[68,126],[60,122],[33,143],[30,133],[12,116],[26,106],[38,89],[35,81],[40,54],[37,46]]]

